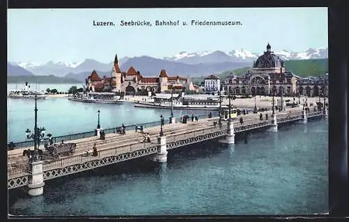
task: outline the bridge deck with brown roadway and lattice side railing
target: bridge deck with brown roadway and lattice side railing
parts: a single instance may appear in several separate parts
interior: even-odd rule
[[[235,120],[235,132],[250,130],[252,129],[251,126],[260,128],[271,125],[272,111],[262,113],[264,119],[262,121],[259,120],[260,113],[249,113],[243,116],[244,123],[242,125],[239,123],[239,120]],[[265,113],[268,113],[268,120],[265,120]],[[283,112],[278,111],[276,114],[278,120],[281,120],[281,122],[302,119],[302,109],[299,108],[288,109],[288,111]],[[311,116],[311,113],[309,113],[309,115]],[[313,113],[313,115],[321,116],[321,113]],[[167,149],[170,150],[190,143],[198,143],[207,139],[225,136],[227,132],[227,122],[223,121],[222,127],[214,127],[213,121],[217,120],[218,118],[205,118],[198,120],[198,122],[189,121],[187,124],[177,122],[164,125],[163,132],[166,136]],[[96,136],[66,141],[77,143],[75,153],[70,157],[45,160],[43,164],[44,180],[50,180],[54,177],[68,175],[70,173],[86,171],[91,168],[105,166],[119,161],[126,161],[127,159],[156,154],[159,131],[159,126],[144,129],[145,133],[150,134],[151,143],[143,143],[144,134],[135,132],[134,130],[126,132],[125,135],[107,134],[105,141],[98,140]],[[83,154],[87,150],[91,150],[94,143],[96,143],[98,157],[84,157]],[[28,158],[22,157],[24,149],[28,148],[8,151],[8,189],[22,187],[28,184],[29,172],[27,167],[29,164]]]

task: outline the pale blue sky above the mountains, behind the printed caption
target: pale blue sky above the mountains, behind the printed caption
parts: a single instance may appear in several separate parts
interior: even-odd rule
[[[241,26],[155,26],[155,20],[239,21]],[[93,21],[115,26],[93,26]],[[152,26],[120,26],[146,20]],[[107,63],[114,54],[173,56],[179,51],[262,53],[327,47],[327,8],[10,9],[8,61]]]

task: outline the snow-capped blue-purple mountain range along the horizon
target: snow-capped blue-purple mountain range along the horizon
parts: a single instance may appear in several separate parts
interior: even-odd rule
[[[274,51],[274,53],[285,61],[327,58],[328,48],[310,48],[303,52],[281,50]],[[193,77],[249,66],[261,54],[253,53],[246,49],[228,52],[202,51],[189,53],[187,51],[181,51],[179,54],[164,58],[153,58],[150,56],[124,57],[119,59],[119,65],[124,72],[127,72],[128,68],[133,66],[144,76],[156,76],[161,69],[165,68],[166,72],[170,75]],[[111,57],[113,58],[114,56]],[[78,81],[84,81],[91,74],[92,70],[96,70],[101,76],[110,76],[112,65],[113,61],[110,63],[101,63],[90,58],[77,63],[52,61],[45,64],[38,64],[31,61],[20,63],[8,62],[8,76],[27,75],[30,73],[35,75],[53,74],[57,77],[70,77]]]

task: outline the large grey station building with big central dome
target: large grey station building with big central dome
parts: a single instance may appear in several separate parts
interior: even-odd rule
[[[325,77],[301,78],[285,69],[283,60],[272,47],[253,62],[253,68],[242,76],[230,74],[223,81],[223,91],[233,95],[328,95],[328,73]]]

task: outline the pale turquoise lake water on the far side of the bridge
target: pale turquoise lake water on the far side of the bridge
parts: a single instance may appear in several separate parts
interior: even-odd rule
[[[25,141],[25,130],[34,132],[34,100],[7,99],[8,141]],[[38,127],[45,127],[47,134],[62,136],[89,132],[96,128],[97,111],[100,110],[101,127],[104,129],[124,125],[134,125],[160,120],[162,114],[166,120],[170,109],[135,108],[133,103],[88,104],[70,101],[67,98],[49,98],[38,100]],[[208,115],[210,111],[174,110],[174,117],[184,114]],[[214,113],[214,112],[212,112]]]

